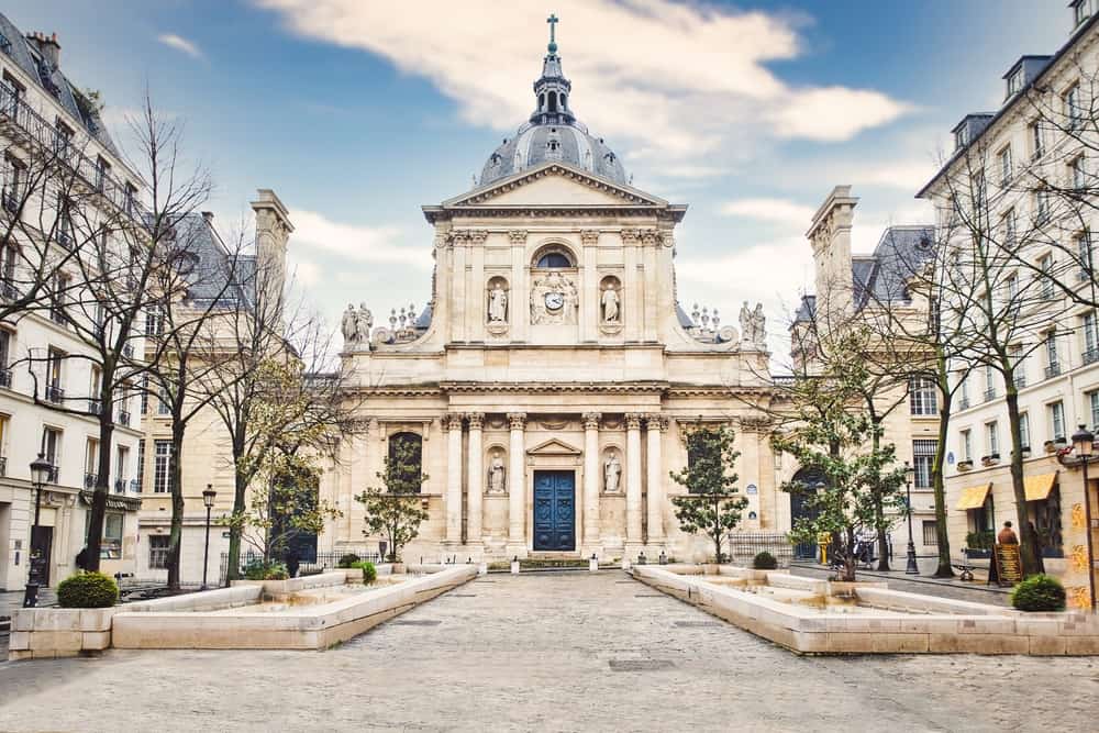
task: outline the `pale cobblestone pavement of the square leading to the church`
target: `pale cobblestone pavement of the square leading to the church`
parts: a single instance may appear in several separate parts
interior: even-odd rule
[[[620,571],[491,575],[328,652],[0,664],[0,730],[1094,730],[1099,658],[798,657]]]

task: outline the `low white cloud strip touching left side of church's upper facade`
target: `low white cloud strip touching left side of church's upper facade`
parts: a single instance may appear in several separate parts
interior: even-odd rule
[[[363,263],[431,269],[430,244],[400,245],[400,227],[344,224],[303,209],[291,211],[290,220],[295,226],[291,238],[295,248],[306,247],[308,252],[312,247]]]

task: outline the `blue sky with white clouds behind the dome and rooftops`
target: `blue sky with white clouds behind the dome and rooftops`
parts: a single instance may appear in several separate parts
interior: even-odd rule
[[[1067,38],[1064,0],[9,0],[56,32],[62,67],[109,123],[155,104],[210,168],[235,227],[256,188],[298,226],[300,286],[333,323],[430,296],[420,206],[470,187],[533,107],[556,12],[571,105],[634,184],[690,204],[679,293],[762,300],[770,329],[811,276],[803,233],[837,184],[862,197],[855,248],[929,211],[913,199],[966,112],[995,109],[1021,54]],[[120,135],[122,136],[121,132]]]

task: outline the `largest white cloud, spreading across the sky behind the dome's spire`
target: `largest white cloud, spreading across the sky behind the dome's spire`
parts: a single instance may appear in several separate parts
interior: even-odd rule
[[[511,131],[530,114],[545,47],[535,2],[254,0],[302,36],[380,55],[425,77],[466,121]],[[654,173],[744,158],[755,141],[850,140],[908,107],[841,86],[792,86],[767,64],[799,56],[790,16],[670,0],[559,0],[558,43],[578,116]],[[491,22],[489,22],[489,19]],[[625,145],[623,143],[629,143]],[[677,173],[664,170],[665,175]]]

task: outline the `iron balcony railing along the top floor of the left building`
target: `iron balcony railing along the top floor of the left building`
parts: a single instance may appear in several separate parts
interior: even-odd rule
[[[98,160],[78,151],[66,134],[38,114],[7,82],[0,82],[0,116],[13,122],[34,144],[56,154],[57,158],[74,169],[89,188],[99,190],[101,196],[119,210],[137,221],[144,220],[144,209],[134,199],[132,187],[103,170]],[[100,179],[101,187],[97,186]]]

